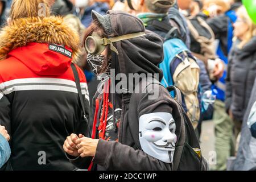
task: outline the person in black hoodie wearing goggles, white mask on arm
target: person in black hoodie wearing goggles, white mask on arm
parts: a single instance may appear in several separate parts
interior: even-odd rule
[[[126,83],[121,87],[121,81],[118,81],[120,76],[125,79],[129,74],[137,73],[138,76],[156,74],[158,78],[154,78],[160,81],[163,74],[158,64],[163,60],[162,40],[153,32],[145,32],[139,18],[122,11],[109,11],[104,16],[93,11],[92,17],[94,23],[84,41],[87,59],[94,73],[104,81],[104,90],[96,93],[93,103],[92,138],[97,139],[75,134],[69,136],[63,145],[69,160],[79,168],[94,170],[170,171],[175,158],[175,143],[180,135],[175,134],[180,118],[173,111],[170,94],[163,86],[152,84],[154,89],[131,97],[133,90],[127,92]],[[106,43],[110,43],[109,38],[122,40],[95,55],[90,53],[93,52],[90,47],[94,47],[90,44],[93,40],[90,35],[94,39],[106,38]],[[112,76],[117,76],[115,81],[112,76],[109,78],[110,68],[115,70],[115,74],[113,70],[111,72]],[[147,81],[142,79],[141,84],[147,85]],[[129,84],[136,88],[137,84],[130,80]],[[109,94],[110,86],[120,89]],[[154,93],[158,90],[158,97],[150,99],[152,90]],[[90,163],[92,158],[93,163]]]

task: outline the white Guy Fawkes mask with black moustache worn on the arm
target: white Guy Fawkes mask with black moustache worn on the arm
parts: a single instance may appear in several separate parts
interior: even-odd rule
[[[176,125],[170,113],[150,113],[139,118],[139,142],[146,154],[165,163],[174,158]]]

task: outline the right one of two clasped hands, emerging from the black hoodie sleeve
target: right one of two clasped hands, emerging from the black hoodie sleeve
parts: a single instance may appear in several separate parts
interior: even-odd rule
[[[79,135],[80,139],[76,140],[76,148],[81,156],[85,158],[88,156],[95,156],[96,148],[98,146],[98,139],[92,139]]]

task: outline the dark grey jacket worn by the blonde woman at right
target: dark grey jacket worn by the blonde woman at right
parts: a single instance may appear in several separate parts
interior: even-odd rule
[[[226,110],[232,110],[234,118],[242,121],[249,103],[256,77],[256,37],[242,49],[237,40],[229,55],[226,77]]]

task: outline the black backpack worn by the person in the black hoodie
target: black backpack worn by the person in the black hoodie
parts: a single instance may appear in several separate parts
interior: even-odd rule
[[[141,81],[142,82],[142,81]],[[135,90],[140,90],[141,82],[137,86],[135,86]],[[154,81],[147,81],[146,88],[149,88],[152,84],[159,84],[163,86],[158,80]],[[138,88],[139,87],[139,88]],[[175,93],[175,98],[171,98],[172,101],[172,109],[176,115],[179,117],[179,121],[175,121],[176,123],[176,134],[177,135],[177,142],[175,144],[175,152],[174,152],[174,161],[172,163],[172,170],[173,171],[207,171],[208,170],[208,162],[204,159],[203,155],[201,154],[201,148],[199,144],[199,140],[197,139],[195,130],[193,129],[192,123],[188,118],[185,110],[181,106],[182,98],[181,92],[175,86],[170,86],[168,88],[169,92]],[[144,90],[141,89],[141,90]],[[148,90],[150,93],[150,90]],[[171,95],[170,95],[171,97]],[[131,94],[131,100],[138,99],[136,94]],[[132,103],[132,102],[130,102]],[[129,110],[133,110],[132,108],[134,105],[129,104]],[[129,118],[133,118],[132,112],[129,112]]]

